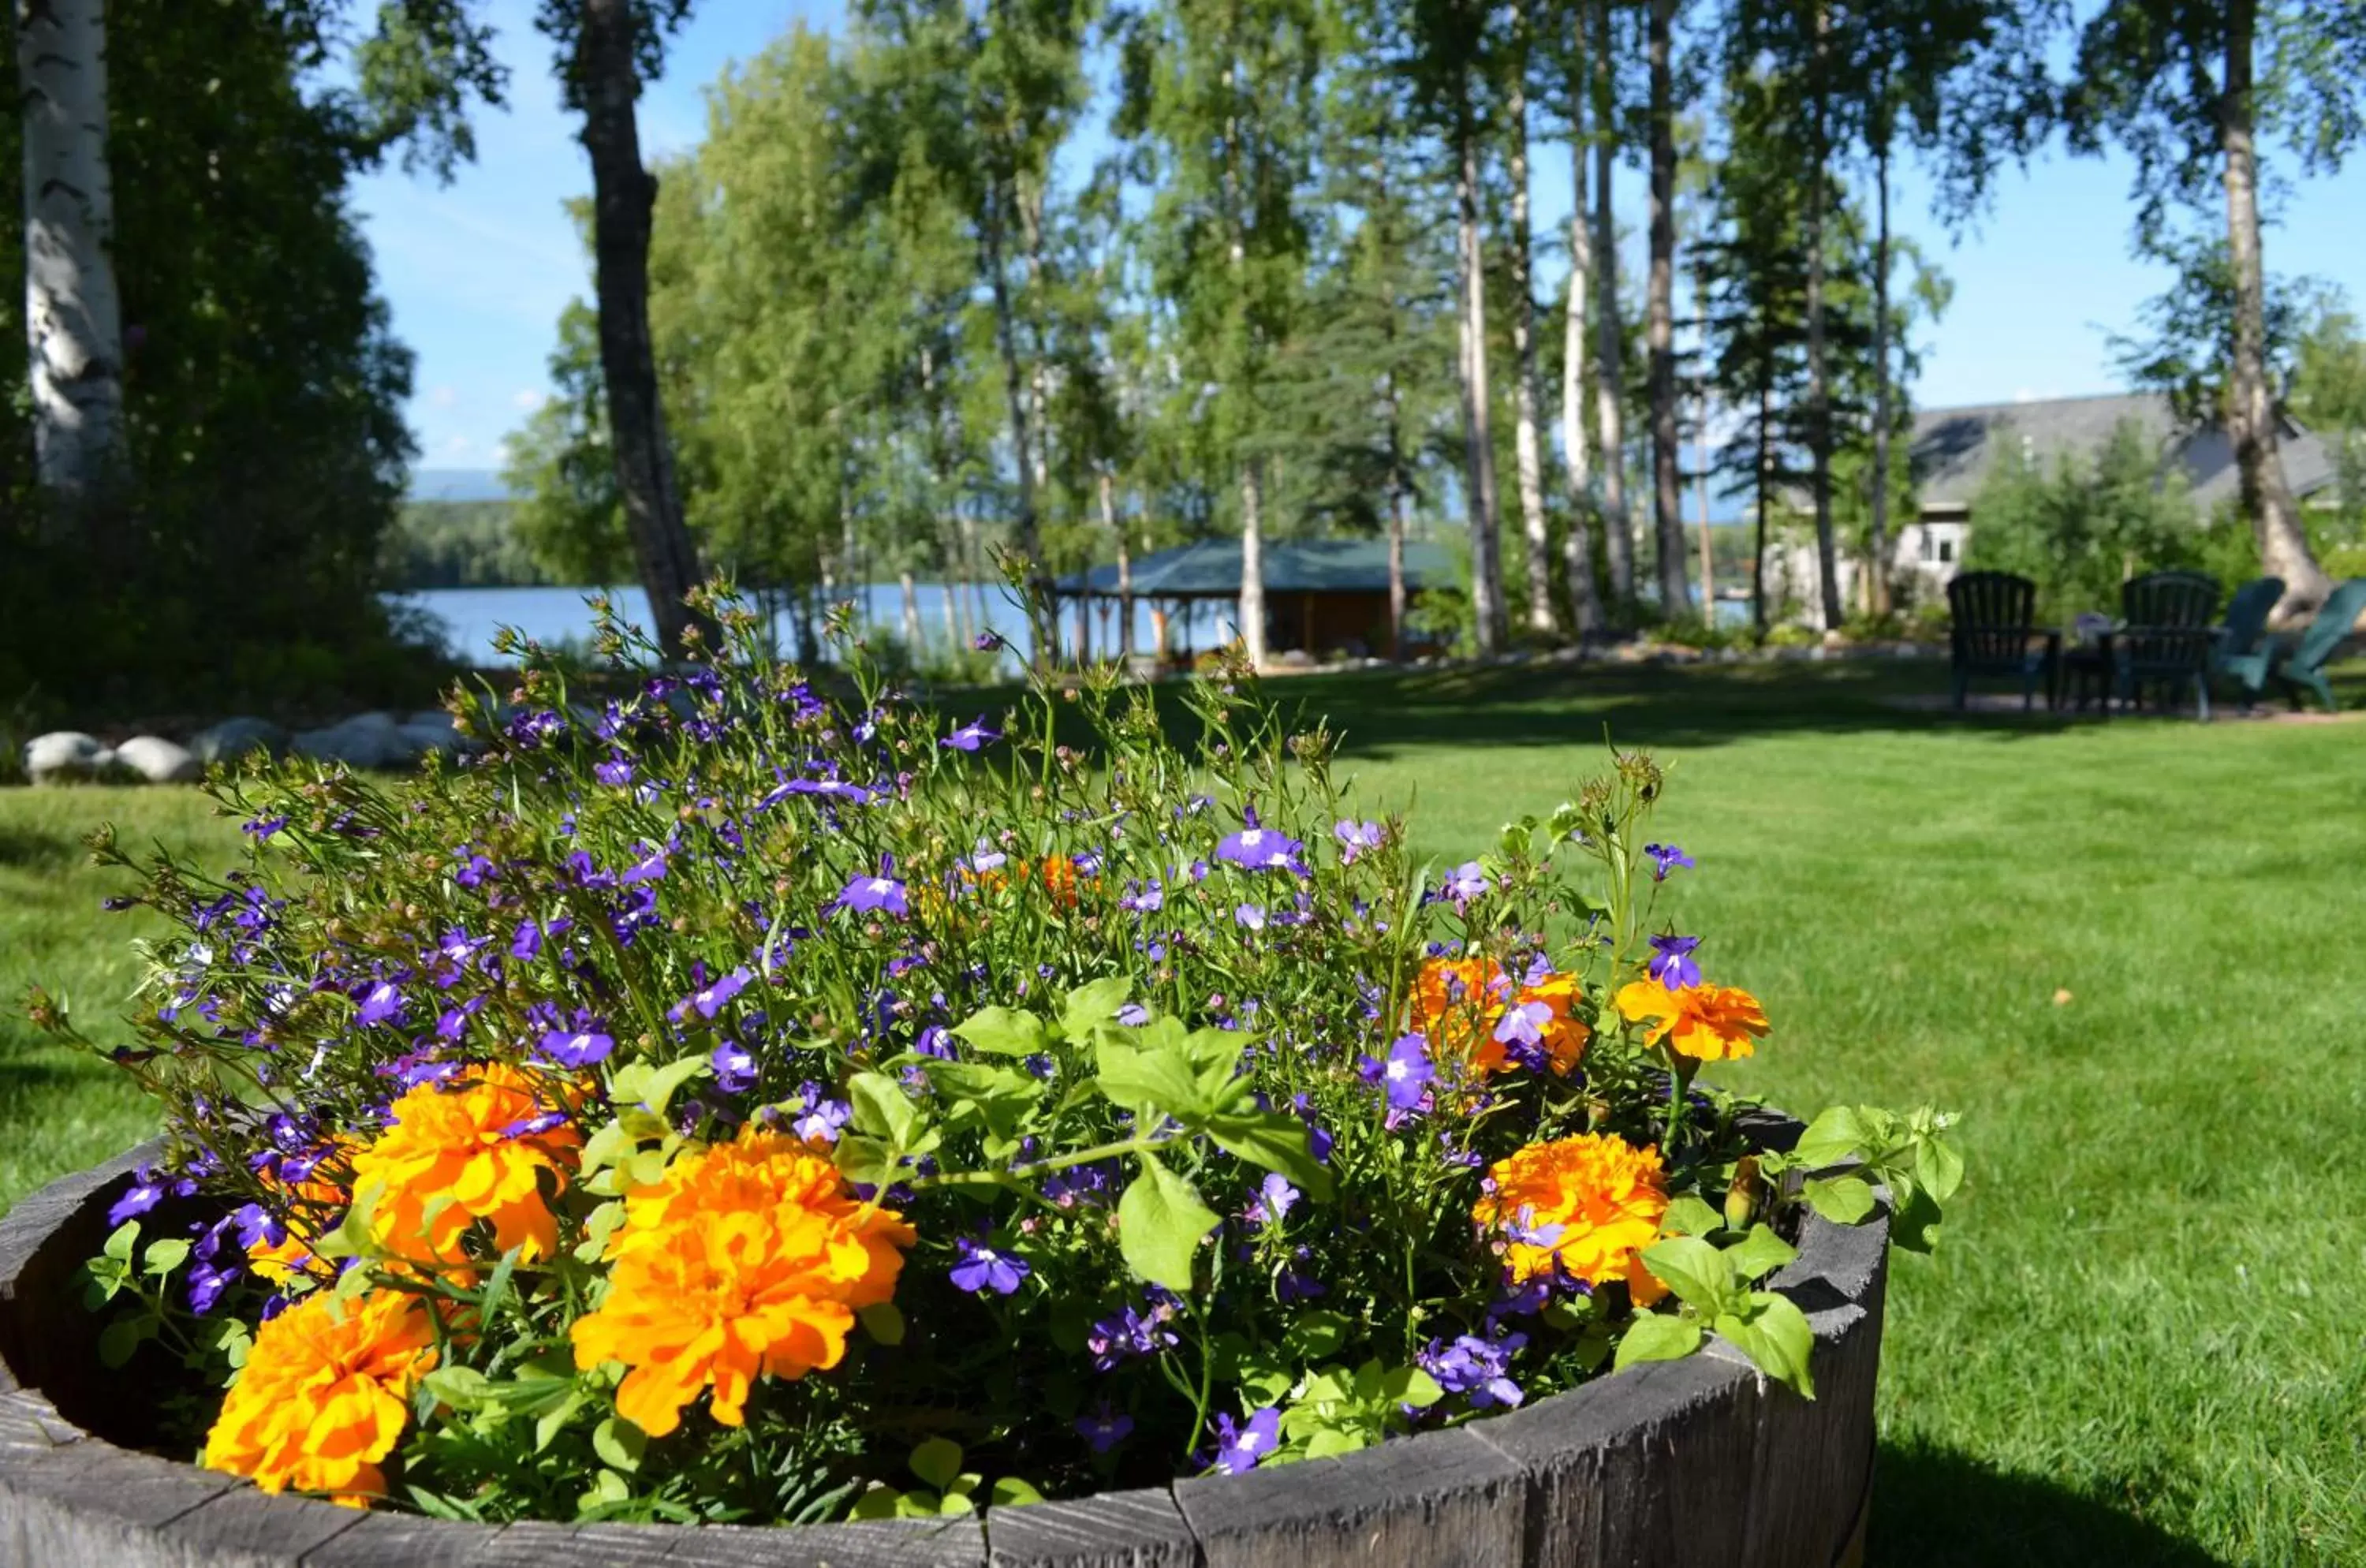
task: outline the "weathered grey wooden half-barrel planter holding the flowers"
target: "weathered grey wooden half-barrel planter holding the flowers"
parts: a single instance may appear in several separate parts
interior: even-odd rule
[[[73,1272],[144,1154],[0,1220],[5,1568],[1853,1568],[1864,1549],[1886,1216],[1810,1213],[1774,1279],[1815,1329],[1815,1400],[1711,1343],[1453,1431],[1166,1490],[925,1523],[471,1525],[267,1497],[95,1436],[142,1393],[99,1367]]]

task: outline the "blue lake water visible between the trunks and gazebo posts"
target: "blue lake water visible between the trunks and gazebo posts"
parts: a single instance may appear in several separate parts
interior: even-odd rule
[[[445,646],[454,657],[471,665],[504,665],[504,660],[492,650],[492,636],[502,627],[516,627],[525,636],[542,643],[589,643],[592,641],[592,608],[584,603],[587,594],[599,594],[601,589],[424,589],[419,594],[388,594],[390,603],[426,610],[442,624]],[[1027,617],[1001,596],[996,589],[965,589],[970,594],[970,620],[972,624],[998,631],[1013,648],[1003,655],[1010,669],[1029,653]],[[622,613],[622,617],[636,627],[648,629],[648,594],[639,587],[606,589],[608,598]],[[932,648],[946,648],[951,636],[944,629],[944,598],[946,587],[935,582],[918,584],[920,601],[920,636],[927,639]],[[856,615],[892,636],[901,636],[904,627],[904,589],[894,582],[873,582],[856,596]],[[783,648],[797,646],[795,624],[788,615],[778,617],[778,634]],[[1185,629],[1183,622],[1174,624],[1176,648],[1209,648],[1230,634],[1230,605],[1200,605],[1192,615],[1192,624]],[[1077,636],[1077,613],[1067,610],[1062,620],[1062,636],[1074,646]],[[1133,646],[1150,648],[1150,605],[1133,605]],[[1107,615],[1095,605],[1093,615],[1093,650],[1117,648],[1117,605],[1112,603]]]

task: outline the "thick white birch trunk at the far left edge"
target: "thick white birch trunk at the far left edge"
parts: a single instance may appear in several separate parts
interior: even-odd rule
[[[33,445],[50,527],[69,537],[114,487],[123,433],[104,0],[19,0],[17,85]]]

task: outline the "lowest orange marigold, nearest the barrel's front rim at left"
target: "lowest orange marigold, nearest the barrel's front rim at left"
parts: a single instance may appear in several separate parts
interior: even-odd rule
[[[435,1329],[414,1296],[308,1296],[256,1329],[206,1433],[206,1469],[367,1509],[386,1492],[379,1459],[402,1436],[412,1386],[433,1367]]]

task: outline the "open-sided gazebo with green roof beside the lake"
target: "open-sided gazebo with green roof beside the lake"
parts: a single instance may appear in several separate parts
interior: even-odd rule
[[[1268,653],[1391,653],[1386,539],[1268,539]],[[1405,544],[1405,594],[1455,582],[1455,561],[1439,544]],[[1093,610],[1107,620],[1119,605],[1117,568],[1095,565],[1053,584],[1060,603],[1077,603],[1077,653],[1091,657]],[[1200,605],[1240,603],[1240,539],[1197,539],[1133,561],[1131,596],[1150,605],[1152,650],[1169,653],[1183,627],[1181,657],[1190,657],[1190,627]],[[1218,613],[1221,615],[1221,613]],[[1103,627],[1107,643],[1107,627]]]

